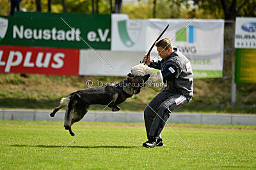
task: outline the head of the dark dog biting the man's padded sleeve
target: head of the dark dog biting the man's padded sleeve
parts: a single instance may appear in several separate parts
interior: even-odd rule
[[[150,77],[150,74],[146,74],[145,76],[134,76],[133,74],[127,74],[129,87],[131,87],[133,94],[140,93],[141,87],[144,87],[145,82]]]

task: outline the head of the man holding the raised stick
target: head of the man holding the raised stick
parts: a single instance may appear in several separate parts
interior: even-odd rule
[[[170,39],[164,38],[161,39],[160,41],[156,41],[156,50],[158,52],[158,55],[162,58],[165,59],[171,53],[173,52],[173,47],[172,47],[172,42]]]

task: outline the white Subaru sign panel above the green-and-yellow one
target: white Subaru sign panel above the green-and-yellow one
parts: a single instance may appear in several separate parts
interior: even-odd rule
[[[235,48],[256,48],[256,18],[236,17]]]

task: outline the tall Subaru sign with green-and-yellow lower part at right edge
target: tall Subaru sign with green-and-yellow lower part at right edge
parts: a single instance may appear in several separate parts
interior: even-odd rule
[[[236,17],[236,83],[256,83],[256,18]]]

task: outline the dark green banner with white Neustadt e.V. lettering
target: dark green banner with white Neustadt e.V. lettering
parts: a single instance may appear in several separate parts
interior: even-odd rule
[[[0,17],[0,45],[110,49],[111,15],[15,13]]]

